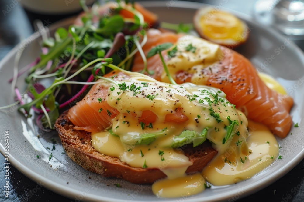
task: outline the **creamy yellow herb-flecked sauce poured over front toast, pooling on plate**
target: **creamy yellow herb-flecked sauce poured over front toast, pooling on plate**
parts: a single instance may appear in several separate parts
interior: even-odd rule
[[[278,155],[273,135],[254,123],[257,131],[249,133],[246,116],[219,89],[172,85],[137,73],[116,82],[103,82],[110,85],[103,99],[120,113],[111,129],[92,134],[92,144],[131,167],[163,171],[167,178],[152,186],[159,197],[197,194],[205,189],[205,179],[214,185],[247,179]],[[192,162],[181,147],[204,141],[210,141],[218,155],[202,174],[186,175]],[[219,174],[222,177],[214,177]]]

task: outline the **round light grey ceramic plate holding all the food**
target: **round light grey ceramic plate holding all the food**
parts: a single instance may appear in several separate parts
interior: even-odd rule
[[[153,1],[144,2],[143,4],[151,11],[157,13],[162,21],[172,23],[192,22],[195,9],[204,6],[199,3],[182,1]],[[168,7],[168,5],[170,6]],[[297,46],[283,38],[283,36],[269,28],[252,22],[252,20],[246,16],[241,16],[240,14],[238,14],[238,16],[247,22],[252,28],[252,31],[250,32],[247,43],[238,48],[237,51],[249,58],[257,67],[261,67],[261,63],[263,63],[265,65],[263,71],[273,75],[285,86],[295,101],[295,105],[291,111],[293,121],[295,123],[299,122],[300,127],[292,127],[292,135],[288,135],[288,137],[283,140],[278,139],[282,147],[280,151],[282,159],[276,160],[271,166],[265,165],[265,170],[249,180],[229,186],[213,186],[201,194],[184,197],[187,198],[187,201],[219,201],[251,194],[282,177],[304,157],[304,138],[302,138],[304,135],[304,127],[301,122],[303,118],[302,112],[304,111],[304,85],[302,85],[304,55]],[[57,23],[51,27],[51,30],[54,31],[55,28],[69,25],[71,22],[70,19]],[[37,34],[34,34],[26,43],[21,43],[26,47],[26,51],[24,51],[21,57],[20,67],[31,63],[39,56],[39,52],[37,52],[37,50],[40,50],[37,42],[38,37]],[[285,41],[288,41],[288,44]],[[8,79],[12,77],[14,57],[21,47],[22,45],[17,45],[0,62],[0,106],[13,102],[11,86],[8,83]],[[281,47],[282,50],[279,54],[278,47]],[[270,58],[271,55],[275,55],[275,59],[269,62],[270,60],[268,59],[269,61],[267,61],[266,58]],[[17,82],[17,86],[20,89],[25,87],[23,78],[20,78]],[[0,131],[2,134],[0,137],[1,153],[4,154],[4,131],[9,130],[9,161],[11,164],[36,183],[58,194],[70,197],[76,201],[117,202],[132,200],[173,202],[184,200],[184,198],[160,199],[152,194],[149,185],[131,184],[115,178],[104,178],[98,174],[86,171],[74,163],[66,154],[61,154],[64,152],[64,149],[56,133],[47,134],[37,131],[31,119],[26,120],[14,108],[7,110],[7,113],[0,114],[0,123]],[[40,134],[39,139],[37,138],[38,134]],[[51,151],[53,138],[57,143],[55,144],[56,149]],[[47,149],[47,147],[49,147],[50,150]],[[53,157],[49,161],[50,153],[53,154]],[[37,155],[40,157],[37,158]],[[91,179],[89,179],[89,177]],[[115,183],[121,184],[122,187],[116,187],[114,185]]]

